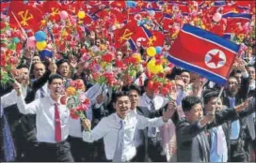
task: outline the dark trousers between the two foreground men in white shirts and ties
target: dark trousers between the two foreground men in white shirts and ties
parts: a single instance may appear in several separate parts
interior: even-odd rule
[[[83,141],[82,138],[69,137],[72,156],[75,162],[92,162],[94,146],[93,143]]]

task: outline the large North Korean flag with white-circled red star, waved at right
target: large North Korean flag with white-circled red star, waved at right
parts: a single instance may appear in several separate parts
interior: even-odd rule
[[[227,81],[238,51],[239,46],[233,42],[184,24],[167,57],[176,66],[222,85]]]

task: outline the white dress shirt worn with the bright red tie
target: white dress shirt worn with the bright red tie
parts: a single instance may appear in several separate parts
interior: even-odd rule
[[[55,101],[51,96],[39,98],[29,104],[25,104],[23,96],[18,97],[18,109],[24,114],[37,114],[37,140],[39,142],[56,143],[55,139]],[[61,141],[65,141],[69,135],[70,111],[66,105],[58,105]]]

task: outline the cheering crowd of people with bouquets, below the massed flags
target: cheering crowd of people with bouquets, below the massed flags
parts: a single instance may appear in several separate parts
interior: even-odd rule
[[[1,15],[4,37],[16,37],[6,20]],[[102,34],[98,24],[65,51],[52,39],[51,54],[29,37],[1,48],[1,161],[255,162],[252,37],[221,86],[168,63],[168,34],[153,54],[128,41],[117,48]]]

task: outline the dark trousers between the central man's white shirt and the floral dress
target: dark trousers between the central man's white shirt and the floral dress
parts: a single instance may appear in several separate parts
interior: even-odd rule
[[[155,138],[149,138],[148,156],[150,162],[167,162],[167,157],[162,156],[163,147],[160,133]]]

